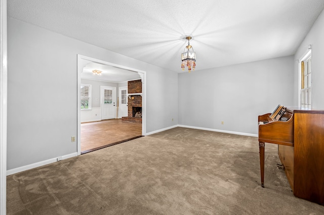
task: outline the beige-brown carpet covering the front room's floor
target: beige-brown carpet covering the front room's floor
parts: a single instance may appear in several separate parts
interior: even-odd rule
[[[8,214],[324,214],[293,195],[277,146],[174,128],[8,176]]]

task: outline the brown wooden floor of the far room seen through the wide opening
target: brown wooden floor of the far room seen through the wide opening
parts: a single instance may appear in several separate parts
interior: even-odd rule
[[[81,123],[81,153],[142,135],[142,124],[121,119]]]

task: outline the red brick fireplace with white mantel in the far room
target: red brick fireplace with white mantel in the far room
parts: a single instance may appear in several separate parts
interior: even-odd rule
[[[142,93],[141,79],[128,82],[128,117],[121,120],[142,123],[142,96],[134,93]]]

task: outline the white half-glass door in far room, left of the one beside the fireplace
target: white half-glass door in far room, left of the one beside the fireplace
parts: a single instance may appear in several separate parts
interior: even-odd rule
[[[116,118],[116,88],[100,86],[101,120]]]

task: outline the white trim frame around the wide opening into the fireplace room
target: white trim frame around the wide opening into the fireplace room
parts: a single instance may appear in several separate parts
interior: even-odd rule
[[[146,71],[121,66],[118,64],[109,63],[106,61],[101,61],[98,59],[77,55],[77,155],[81,154],[81,102],[80,102],[80,87],[81,87],[81,73],[83,72],[83,68],[90,62],[108,65],[112,67],[116,67],[119,69],[125,69],[132,72],[137,72],[142,79],[142,135],[146,135]]]

